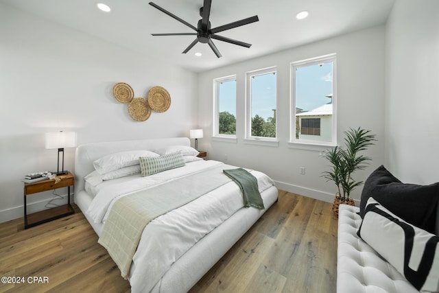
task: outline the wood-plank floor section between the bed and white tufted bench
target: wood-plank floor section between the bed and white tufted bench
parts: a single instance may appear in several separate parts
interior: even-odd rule
[[[279,200],[191,289],[194,292],[335,292],[332,204],[279,191]]]

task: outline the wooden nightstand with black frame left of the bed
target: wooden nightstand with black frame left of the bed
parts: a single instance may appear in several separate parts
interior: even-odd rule
[[[56,220],[66,215],[75,213],[73,207],[70,204],[70,187],[75,184],[75,176],[69,172],[60,182],[55,184],[54,179],[41,180],[35,183],[25,183],[24,199],[25,199],[25,228],[33,227],[51,220]],[[60,207],[54,207],[52,209],[46,209],[44,211],[38,211],[37,213],[31,213],[27,215],[26,197],[30,194],[36,194],[38,192],[53,190],[57,188],[67,187],[68,202]]]

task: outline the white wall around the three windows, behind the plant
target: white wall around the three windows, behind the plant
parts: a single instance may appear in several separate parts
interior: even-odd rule
[[[372,157],[368,169],[357,173],[357,180],[365,180],[377,166],[384,162],[384,106],[385,106],[385,27],[346,34],[317,43],[288,49],[254,60],[222,67],[200,74],[199,117],[204,128],[204,138],[199,148],[208,151],[209,159],[225,161],[266,172],[278,187],[304,196],[331,201],[335,185],[321,177],[328,169],[326,159],[316,151],[288,148],[289,141],[289,64],[331,53],[337,54],[337,137],[343,142],[343,132],[352,128],[366,128],[377,134],[377,143],[366,154]],[[278,69],[278,147],[244,143],[244,99],[246,71],[276,66]],[[214,78],[237,75],[237,143],[211,139],[213,115]],[[306,174],[300,175],[300,167]],[[352,196],[359,199],[361,188]]]

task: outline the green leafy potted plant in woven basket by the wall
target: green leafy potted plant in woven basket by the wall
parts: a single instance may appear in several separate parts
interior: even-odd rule
[[[374,144],[372,141],[375,141],[375,134],[370,134],[370,130],[349,128],[344,134],[346,135],[344,138],[346,148],[335,146],[324,155],[332,164],[332,169],[323,172],[323,177],[327,178],[327,181],[332,180],[338,189],[333,204],[333,212],[337,217],[340,204],[355,205],[349,196],[355,187],[363,184],[363,181],[354,180],[353,173],[364,169],[371,160],[368,156],[358,153],[366,150],[368,146]]]

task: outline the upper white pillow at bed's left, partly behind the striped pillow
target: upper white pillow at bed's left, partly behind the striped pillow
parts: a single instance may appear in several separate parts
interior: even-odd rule
[[[93,166],[99,174],[106,174],[123,167],[139,164],[139,157],[158,156],[155,152],[149,150],[130,150],[126,152],[117,152],[108,154],[93,162]]]

